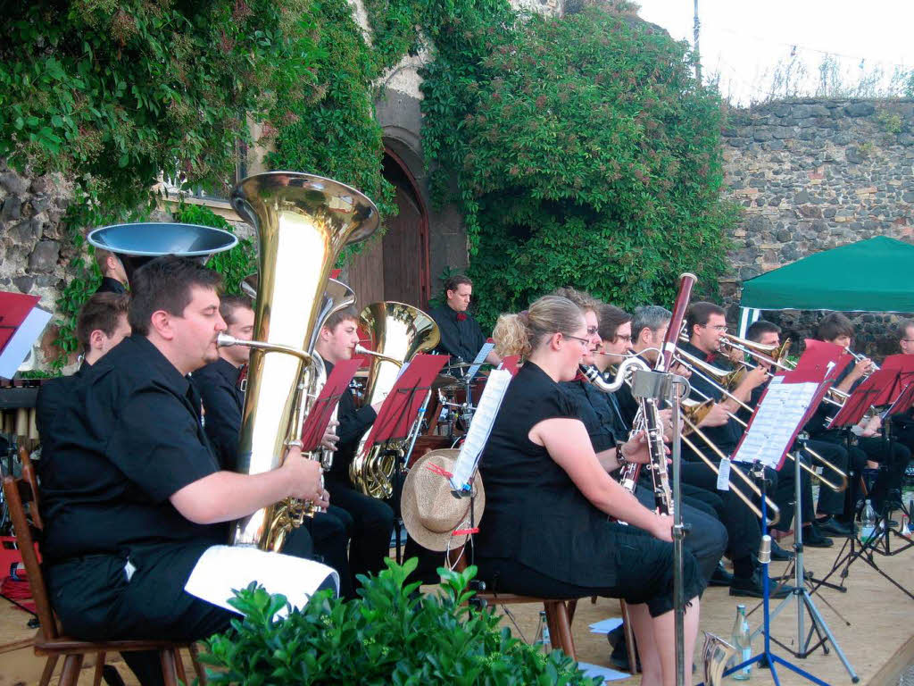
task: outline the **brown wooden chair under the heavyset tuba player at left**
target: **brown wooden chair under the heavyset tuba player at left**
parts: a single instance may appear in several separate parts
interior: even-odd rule
[[[48,589],[35,549],[35,541],[40,538],[41,532],[44,530],[38,509],[35,468],[25,449],[20,450],[19,456],[22,459],[22,477],[16,479],[11,476],[4,477],[3,492],[9,506],[10,518],[13,520],[13,531],[16,533],[18,548],[22,552],[22,561],[26,565],[28,583],[35,600],[38,621],[41,623],[34,639],[35,654],[48,658],[45,662],[45,669],[41,673],[41,680],[38,682],[39,686],[47,686],[61,656],[64,658],[64,662],[58,681],[59,686],[75,686],[80,679],[82,661],[86,655],[91,654],[96,656],[92,684],[99,686],[107,653],[137,650],[157,650],[166,686],[177,686],[178,679],[187,682],[179,653],[180,648],[187,648],[190,651],[197,677],[200,683],[206,684],[206,671],[203,670],[197,659],[197,648],[193,643],[171,640],[83,641],[60,634],[57,620],[48,600]],[[27,506],[31,515],[31,524],[26,516]],[[36,532],[35,535],[33,535],[33,531]]]

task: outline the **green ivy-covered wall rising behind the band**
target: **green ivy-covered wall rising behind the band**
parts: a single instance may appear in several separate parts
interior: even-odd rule
[[[558,285],[663,303],[679,271],[713,286],[723,266],[720,103],[621,0],[46,0],[0,18],[0,38],[0,154],[73,184],[46,279],[63,344],[97,278],[83,231],[154,213],[159,170],[228,188],[239,144],[387,216],[384,146],[409,157],[443,236],[432,275],[469,255],[487,323]]]

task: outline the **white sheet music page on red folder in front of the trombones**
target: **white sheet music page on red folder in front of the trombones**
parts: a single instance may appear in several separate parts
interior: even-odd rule
[[[749,431],[733,456],[735,461],[760,460],[762,465],[776,469],[790,447],[793,433],[813,402],[819,384],[782,381],[780,376],[771,379]]]

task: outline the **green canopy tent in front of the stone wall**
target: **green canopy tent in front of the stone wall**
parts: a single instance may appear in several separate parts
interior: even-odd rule
[[[914,312],[914,245],[886,236],[817,252],[743,282],[739,328],[759,310]]]

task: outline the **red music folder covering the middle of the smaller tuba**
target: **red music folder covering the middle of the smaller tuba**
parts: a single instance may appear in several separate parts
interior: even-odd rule
[[[377,413],[365,442],[366,450],[372,445],[406,438],[425,401],[426,391],[447,359],[447,355],[417,355],[409,362]]]

